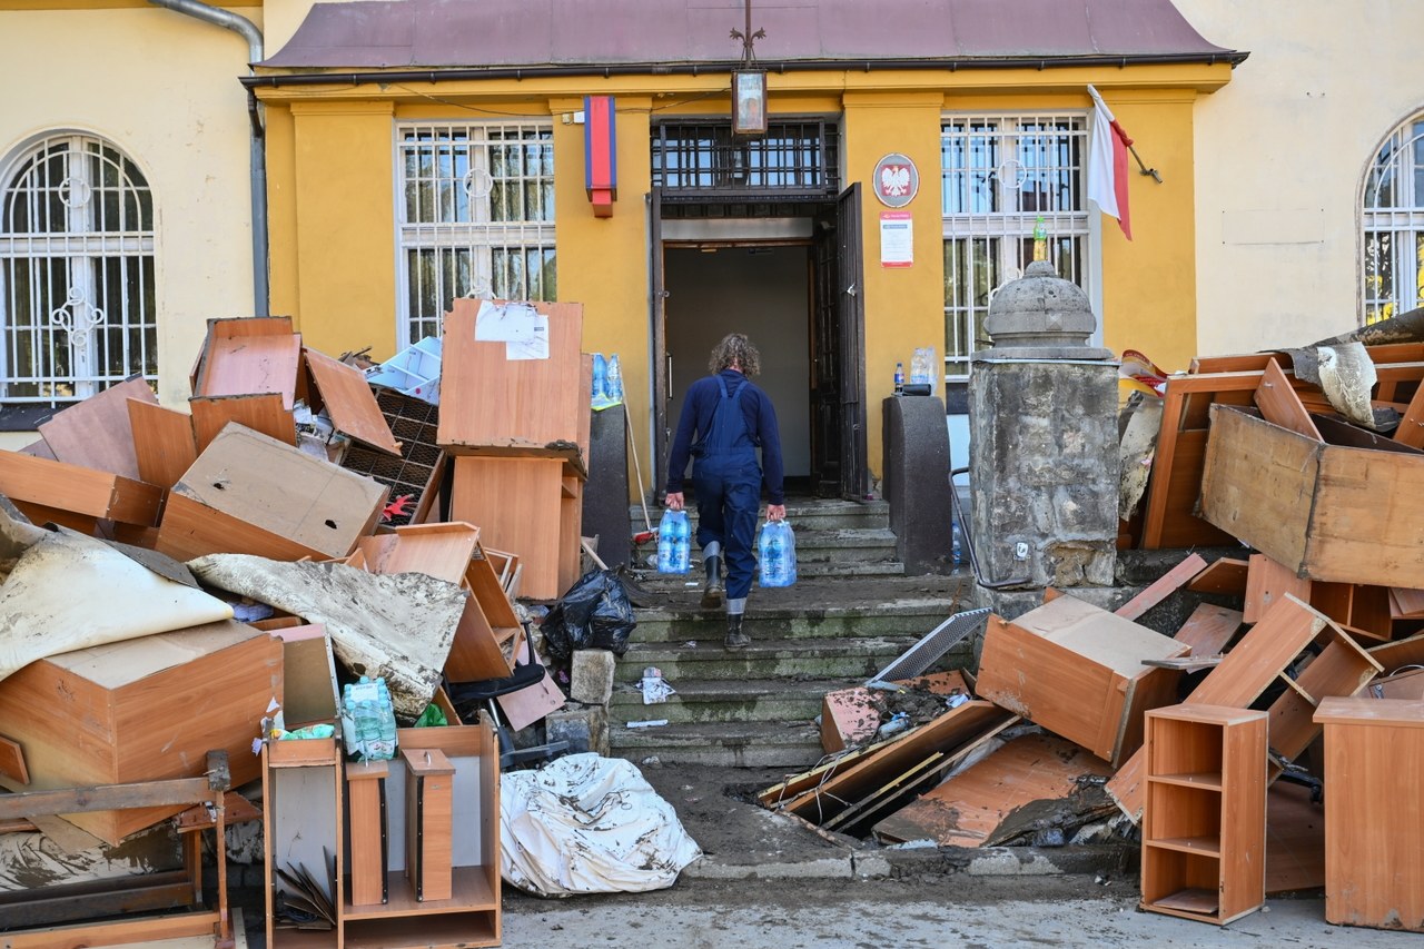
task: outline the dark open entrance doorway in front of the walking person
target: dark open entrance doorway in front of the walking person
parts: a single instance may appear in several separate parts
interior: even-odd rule
[[[810,245],[669,244],[664,251],[668,427],[688,386],[731,332],[762,353],[756,379],[776,406],[789,489],[810,486]]]

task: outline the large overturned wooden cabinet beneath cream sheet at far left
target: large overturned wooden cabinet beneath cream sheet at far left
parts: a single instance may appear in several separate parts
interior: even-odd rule
[[[282,694],[282,644],[226,620],[30,663],[0,681],[0,721],[24,748],[26,791],[197,778],[215,748],[236,788],[261,774],[252,740]],[[71,819],[117,844],[184,807]]]

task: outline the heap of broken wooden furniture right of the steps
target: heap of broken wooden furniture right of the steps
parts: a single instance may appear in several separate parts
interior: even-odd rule
[[[1323,888],[1331,923],[1424,930],[1424,343],[1383,332],[1158,380],[1119,549],[1175,566],[984,617],[977,675],[924,675],[965,634],[931,633],[826,697],[827,758],[762,804],[883,845],[1139,838],[1148,911]]]

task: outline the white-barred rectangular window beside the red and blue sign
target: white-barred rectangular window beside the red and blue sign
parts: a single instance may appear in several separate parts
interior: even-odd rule
[[[396,150],[400,346],[439,336],[456,296],[557,298],[548,123],[407,124]]]

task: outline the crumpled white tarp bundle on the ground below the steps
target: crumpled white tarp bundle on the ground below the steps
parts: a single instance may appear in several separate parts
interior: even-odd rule
[[[537,896],[672,886],[702,856],[629,761],[567,755],[500,775],[500,872]]]

